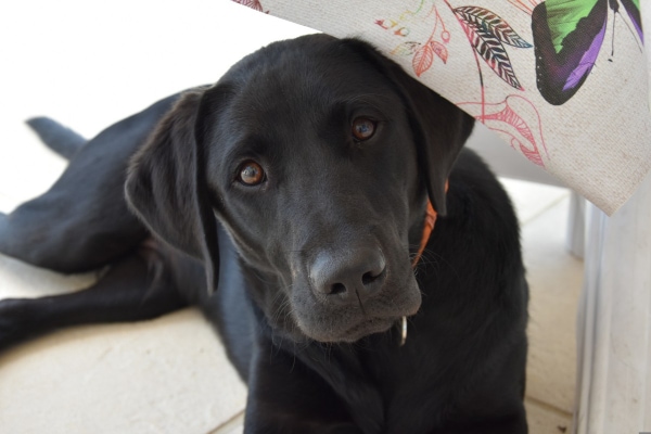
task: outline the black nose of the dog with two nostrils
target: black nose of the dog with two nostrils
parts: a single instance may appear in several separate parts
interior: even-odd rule
[[[321,253],[310,269],[314,290],[335,303],[363,303],[380,292],[386,261],[376,248]]]

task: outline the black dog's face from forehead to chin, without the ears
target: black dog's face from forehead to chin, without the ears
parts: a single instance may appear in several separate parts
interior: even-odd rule
[[[408,232],[425,189],[391,85],[326,46],[250,62],[206,92],[213,206],[272,282],[256,299],[277,329],[356,341],[419,308]],[[210,92],[230,95],[215,107]]]

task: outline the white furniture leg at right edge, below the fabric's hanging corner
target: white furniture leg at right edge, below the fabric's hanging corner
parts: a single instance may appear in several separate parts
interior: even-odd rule
[[[574,432],[651,432],[651,177],[611,218],[589,206]]]

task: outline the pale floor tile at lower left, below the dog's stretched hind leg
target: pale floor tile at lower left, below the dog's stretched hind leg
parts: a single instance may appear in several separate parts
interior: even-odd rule
[[[5,433],[205,434],[245,387],[192,309],[53,333],[0,357]]]

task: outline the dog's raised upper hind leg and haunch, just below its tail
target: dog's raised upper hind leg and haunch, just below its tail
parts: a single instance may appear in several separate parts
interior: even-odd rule
[[[135,248],[146,230],[124,197],[127,166],[175,100],[108,127],[75,154],[47,193],[0,215],[0,252],[39,267],[79,272]]]

